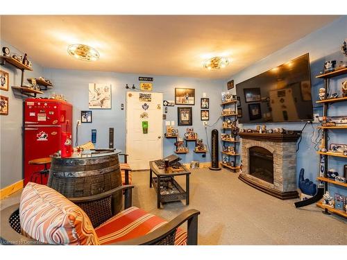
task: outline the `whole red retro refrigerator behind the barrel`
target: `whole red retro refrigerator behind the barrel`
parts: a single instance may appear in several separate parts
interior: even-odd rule
[[[29,165],[28,162],[58,152],[62,132],[72,133],[72,105],[55,99],[27,98],[24,101],[23,125],[26,185],[34,172],[44,169],[44,165]],[[48,175],[43,176],[42,184],[46,184],[47,180]],[[36,182],[41,182],[40,177]]]

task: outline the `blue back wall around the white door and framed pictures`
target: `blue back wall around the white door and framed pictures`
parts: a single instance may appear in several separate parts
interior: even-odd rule
[[[92,123],[82,123],[78,132],[78,143],[83,144],[91,139],[91,130],[97,130],[96,147],[108,148],[108,128],[115,128],[115,146],[121,150],[126,150],[126,84],[139,87],[139,76],[153,77],[153,92],[162,92],[164,100],[174,101],[175,87],[186,87],[195,89],[195,105],[193,107],[193,125],[192,127],[198,133],[206,144],[207,138],[203,121],[200,120],[200,98],[203,93],[210,98],[210,121],[212,124],[219,119],[221,114],[221,90],[223,89],[223,80],[209,80],[204,78],[180,78],[173,76],[153,76],[130,73],[115,73],[101,71],[77,71],[65,69],[44,69],[44,75],[54,84],[51,92],[64,94],[67,101],[74,105],[74,122],[81,119],[81,110],[88,110],[88,84],[89,83],[110,83],[112,85],[112,109],[111,110],[92,110]],[[121,110],[121,103],[124,103],[124,110]],[[165,121],[175,121],[180,137],[184,137],[186,132],[184,126],[177,126],[177,107],[167,107],[167,119],[163,120],[163,132],[166,131]],[[164,113],[164,110],[163,110]],[[221,128],[221,120],[213,128]],[[210,132],[213,128],[208,128]],[[76,133],[74,130],[74,137]],[[174,153],[174,142],[176,139],[164,138],[164,156]],[[74,140],[75,141],[75,140]],[[180,155],[183,162],[190,162],[193,159],[200,162],[210,162],[209,154],[203,158],[201,154],[196,154],[194,142],[189,142],[189,153]],[[146,149],[146,148],[144,148]]]

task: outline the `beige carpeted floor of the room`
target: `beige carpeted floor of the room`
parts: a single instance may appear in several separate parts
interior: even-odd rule
[[[185,177],[176,177],[185,187]],[[296,200],[278,200],[237,179],[228,170],[192,170],[190,205],[170,202],[157,209],[149,172],[133,173],[133,205],[170,220],[187,209],[198,209],[200,245],[347,245],[347,221],[327,216]],[[20,192],[1,200],[1,208],[19,201]]]

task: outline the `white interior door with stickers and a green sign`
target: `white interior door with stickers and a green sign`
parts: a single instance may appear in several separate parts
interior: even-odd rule
[[[148,121],[148,132],[142,122]],[[126,153],[133,170],[162,158],[162,93],[126,92]]]

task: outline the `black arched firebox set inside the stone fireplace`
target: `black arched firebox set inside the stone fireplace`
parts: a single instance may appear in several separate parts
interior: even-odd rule
[[[273,184],[273,154],[260,146],[249,148],[249,174]]]

